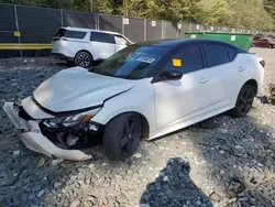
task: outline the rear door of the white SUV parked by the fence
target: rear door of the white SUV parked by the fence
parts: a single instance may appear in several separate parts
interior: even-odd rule
[[[95,59],[107,59],[116,52],[114,35],[101,32],[91,32],[90,46]]]

